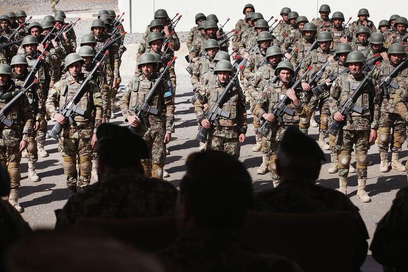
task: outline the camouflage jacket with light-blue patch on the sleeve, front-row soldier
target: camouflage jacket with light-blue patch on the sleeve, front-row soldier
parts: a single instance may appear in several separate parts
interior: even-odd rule
[[[151,87],[157,80],[157,73],[147,79],[143,74],[135,75],[125,88],[123,96],[120,100],[120,110],[123,117],[127,120],[129,115],[136,115],[138,106],[143,102],[144,97],[149,93]],[[166,132],[174,132],[174,102],[173,95],[169,90],[167,82],[162,81],[155,90],[149,105],[158,110],[157,115],[148,114],[149,124],[144,126],[164,126],[166,125]]]

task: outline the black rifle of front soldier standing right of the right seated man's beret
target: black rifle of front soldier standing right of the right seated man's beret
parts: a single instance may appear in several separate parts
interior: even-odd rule
[[[378,65],[379,62],[376,63]],[[374,71],[375,66],[371,68],[371,70],[367,73],[365,78],[360,82],[359,86],[353,91],[353,93],[350,95],[350,97],[343,102],[343,104],[339,108],[339,112],[346,116],[347,120],[351,123],[353,121],[351,117],[351,113],[357,112],[362,114],[363,113],[363,108],[360,108],[359,106],[355,105],[355,102],[358,100],[360,95],[362,94],[362,89],[366,86],[367,82],[370,79],[371,73]],[[334,120],[333,123],[331,123],[330,127],[328,128],[327,132],[328,134],[331,134],[333,136],[336,136],[339,133],[340,127],[343,125],[344,121],[338,121]]]

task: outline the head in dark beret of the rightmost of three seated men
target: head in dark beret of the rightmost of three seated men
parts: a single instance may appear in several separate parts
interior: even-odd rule
[[[315,182],[319,177],[323,151],[310,136],[290,127],[277,150],[276,170],[281,179]]]

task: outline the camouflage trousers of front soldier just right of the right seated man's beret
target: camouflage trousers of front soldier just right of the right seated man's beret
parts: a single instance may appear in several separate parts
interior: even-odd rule
[[[369,130],[339,130],[337,144],[341,146],[339,155],[339,177],[347,178],[350,167],[351,151],[354,148],[356,161],[356,174],[359,179],[367,178],[367,151],[370,148],[368,142]]]

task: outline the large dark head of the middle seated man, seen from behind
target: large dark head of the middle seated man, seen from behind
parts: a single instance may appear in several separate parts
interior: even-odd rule
[[[238,231],[252,207],[251,177],[238,159],[219,151],[188,157],[178,202],[181,228]]]

